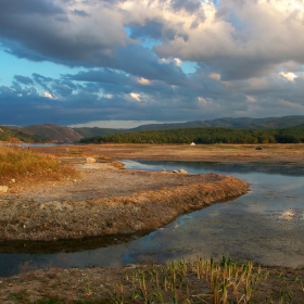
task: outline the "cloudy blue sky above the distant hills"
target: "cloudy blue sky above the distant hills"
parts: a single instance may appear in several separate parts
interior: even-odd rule
[[[304,115],[304,0],[0,0],[0,125]]]

